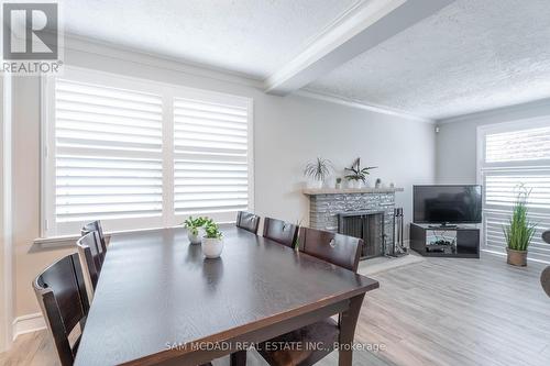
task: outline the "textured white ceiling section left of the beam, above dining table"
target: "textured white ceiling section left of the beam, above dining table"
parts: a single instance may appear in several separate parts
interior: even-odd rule
[[[358,0],[66,0],[70,34],[265,78]]]

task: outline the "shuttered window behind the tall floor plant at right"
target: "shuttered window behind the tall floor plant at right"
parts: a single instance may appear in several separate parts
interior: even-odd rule
[[[530,190],[529,214],[538,230],[529,257],[550,262],[550,121],[521,121],[479,129],[480,179],[484,186],[485,249],[504,252],[503,225],[522,185]]]

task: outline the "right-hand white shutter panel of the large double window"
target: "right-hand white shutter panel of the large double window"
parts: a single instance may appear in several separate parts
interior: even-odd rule
[[[234,220],[250,207],[248,100],[174,99],[174,211]]]

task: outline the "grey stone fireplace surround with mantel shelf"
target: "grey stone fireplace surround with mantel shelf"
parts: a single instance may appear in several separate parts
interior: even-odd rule
[[[338,232],[339,214],[384,212],[385,253],[394,244],[395,193],[403,188],[343,188],[305,189],[309,197],[309,226]]]

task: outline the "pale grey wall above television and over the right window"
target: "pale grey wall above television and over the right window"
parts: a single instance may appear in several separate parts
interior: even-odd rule
[[[477,126],[550,115],[550,100],[518,104],[440,121],[437,182],[476,184]]]

